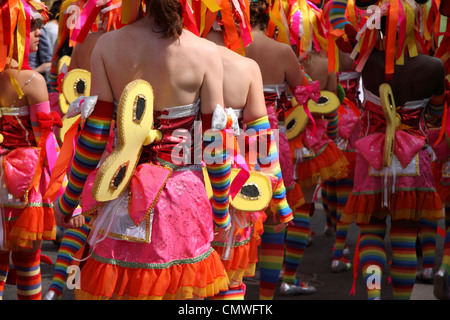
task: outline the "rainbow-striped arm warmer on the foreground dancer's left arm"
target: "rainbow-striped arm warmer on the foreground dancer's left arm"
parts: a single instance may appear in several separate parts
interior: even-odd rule
[[[76,142],[76,151],[69,173],[66,191],[58,198],[58,206],[65,216],[78,206],[88,175],[97,168],[108,143],[113,117],[112,102],[97,101],[94,111],[86,119]]]

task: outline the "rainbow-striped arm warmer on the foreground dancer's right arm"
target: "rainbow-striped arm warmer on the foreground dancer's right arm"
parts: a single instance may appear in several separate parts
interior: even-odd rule
[[[211,115],[202,115],[203,158],[212,188],[214,224],[225,228],[231,223],[229,193],[231,186],[231,154],[224,147],[224,131],[210,129]]]

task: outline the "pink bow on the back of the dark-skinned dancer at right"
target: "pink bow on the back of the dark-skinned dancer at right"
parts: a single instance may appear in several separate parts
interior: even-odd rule
[[[356,141],[356,148],[376,170],[383,167],[384,140],[386,134],[377,132]],[[411,162],[414,155],[425,145],[425,141],[403,130],[395,132],[394,154],[403,168]]]

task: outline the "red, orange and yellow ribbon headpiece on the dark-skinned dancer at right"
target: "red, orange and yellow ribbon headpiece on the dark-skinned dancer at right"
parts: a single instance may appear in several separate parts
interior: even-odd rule
[[[410,57],[418,54],[416,39],[420,41],[422,38],[419,23],[423,21],[423,3],[413,0],[355,0],[359,15],[366,15],[364,25],[355,26],[345,17],[347,0],[333,0],[330,24],[333,30],[344,30],[352,42],[351,58],[356,60],[356,71],[363,69],[375,47],[385,52],[388,78],[394,73],[395,64],[403,64],[405,54]],[[385,30],[382,30],[383,19],[386,21]]]

